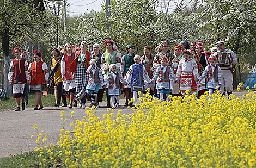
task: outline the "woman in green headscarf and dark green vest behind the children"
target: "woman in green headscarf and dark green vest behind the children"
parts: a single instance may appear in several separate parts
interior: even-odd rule
[[[123,77],[126,76],[130,66],[134,64],[134,56],[135,56],[135,46],[133,45],[127,45],[126,46],[126,53],[122,59],[121,59],[121,74]],[[133,93],[131,92],[131,85],[127,85],[124,87],[124,96],[126,99],[125,107],[132,107],[132,102],[129,104],[129,101],[131,100]]]

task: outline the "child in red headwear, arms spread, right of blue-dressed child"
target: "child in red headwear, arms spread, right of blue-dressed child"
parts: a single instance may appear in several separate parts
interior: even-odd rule
[[[152,80],[156,80],[157,94],[160,94],[161,102],[163,102],[163,94],[166,94],[167,102],[169,102],[169,94],[172,90],[172,79],[179,83],[179,79],[173,74],[173,70],[167,65],[167,59],[161,59],[161,65],[157,67],[155,76]]]

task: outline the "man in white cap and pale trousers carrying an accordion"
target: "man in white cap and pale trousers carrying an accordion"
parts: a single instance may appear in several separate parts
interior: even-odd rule
[[[232,65],[235,65],[237,63],[236,55],[233,51],[230,49],[225,49],[225,42],[224,41],[218,41],[216,42],[216,46],[218,47],[218,51],[216,52],[216,57],[218,57],[220,52],[224,53],[230,53],[231,58],[229,61],[229,65],[224,64],[218,64],[221,68],[221,77],[222,77],[222,87],[221,87],[221,94],[225,94],[225,90],[228,92],[228,96],[232,94],[233,91],[233,82],[234,82],[234,73],[232,70]],[[224,90],[225,88],[225,90]]]

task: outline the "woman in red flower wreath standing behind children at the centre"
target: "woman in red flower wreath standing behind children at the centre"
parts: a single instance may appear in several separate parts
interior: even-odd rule
[[[122,57],[121,53],[113,49],[114,41],[106,40],[104,42],[104,46],[105,45],[106,45],[107,51],[103,53],[101,57],[101,65],[100,65],[101,70],[103,71],[103,74],[104,74],[104,79],[108,77],[108,73],[111,71],[111,69],[109,69],[109,66],[111,64],[115,64],[117,66],[117,72],[120,73],[121,57]],[[106,96],[107,96],[107,107],[111,107],[108,89],[106,90]]]

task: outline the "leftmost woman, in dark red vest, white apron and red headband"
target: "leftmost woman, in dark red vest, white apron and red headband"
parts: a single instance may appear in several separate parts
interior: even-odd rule
[[[15,111],[20,111],[21,109],[23,111],[25,110],[26,84],[29,83],[28,61],[21,58],[22,51],[19,47],[14,48],[13,53],[16,58],[11,60],[8,79],[10,85],[13,86],[13,98],[16,98],[17,108]],[[20,108],[20,97],[22,108]]]

